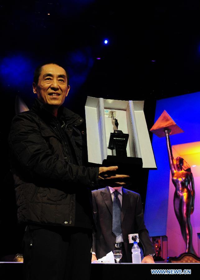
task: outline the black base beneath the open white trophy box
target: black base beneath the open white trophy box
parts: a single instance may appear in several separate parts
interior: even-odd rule
[[[131,156],[107,156],[102,166],[118,166],[117,174],[132,175],[135,170],[142,169],[142,158]]]

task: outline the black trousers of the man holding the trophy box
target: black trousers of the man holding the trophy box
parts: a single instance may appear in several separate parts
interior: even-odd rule
[[[23,239],[25,280],[89,280],[92,230],[27,226]]]

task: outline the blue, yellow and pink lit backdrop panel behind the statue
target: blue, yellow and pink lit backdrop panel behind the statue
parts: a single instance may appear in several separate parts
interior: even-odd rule
[[[183,157],[191,166],[195,185],[195,205],[191,215],[193,245],[198,253],[200,233],[200,92],[158,100],[155,121],[166,110],[184,133],[170,136],[174,158]],[[151,133],[151,132],[150,132]],[[153,135],[153,151],[157,170],[149,171],[145,204],[145,224],[150,236],[168,237],[168,256],[185,251],[179,223],[173,206],[174,185],[167,155],[165,138]]]

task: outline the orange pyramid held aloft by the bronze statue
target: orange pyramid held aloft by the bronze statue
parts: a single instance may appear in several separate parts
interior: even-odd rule
[[[156,134],[158,137],[165,137],[165,130],[170,129],[170,135],[178,134],[184,132],[179,126],[174,122],[170,115],[164,110],[160,117],[157,119],[155,124],[152,126],[150,131]]]

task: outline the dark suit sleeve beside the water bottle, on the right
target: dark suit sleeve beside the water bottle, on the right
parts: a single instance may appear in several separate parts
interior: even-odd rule
[[[144,224],[144,213],[143,213],[141,197],[139,194],[137,198],[135,219],[136,219],[136,228],[138,231],[139,238],[141,239],[142,244],[145,248],[144,256],[147,256],[148,254],[155,254],[154,247],[149,237],[149,232],[147,231],[147,228]]]

